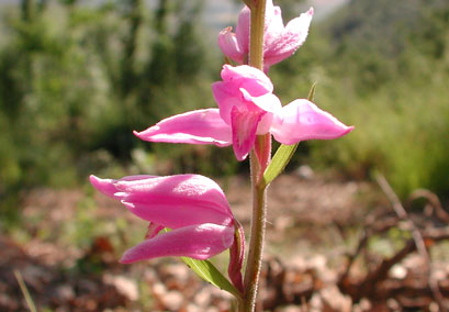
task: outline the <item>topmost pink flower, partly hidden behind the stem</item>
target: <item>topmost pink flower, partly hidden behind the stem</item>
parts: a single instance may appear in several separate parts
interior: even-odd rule
[[[305,41],[313,16],[313,8],[291,20],[285,26],[281,9],[267,0],[263,32],[263,66],[269,67],[291,56]],[[249,53],[250,10],[245,7],[238,15],[236,32],[226,27],[220,32],[218,46],[223,54],[237,64],[244,64]]]

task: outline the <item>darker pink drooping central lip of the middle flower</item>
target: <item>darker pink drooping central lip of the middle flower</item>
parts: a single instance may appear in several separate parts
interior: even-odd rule
[[[237,107],[233,108],[231,112],[233,147],[237,160],[244,160],[254,147],[257,126],[265,113],[263,111],[240,111]]]

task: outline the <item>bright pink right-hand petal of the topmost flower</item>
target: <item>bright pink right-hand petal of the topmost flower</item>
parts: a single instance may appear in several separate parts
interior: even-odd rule
[[[266,66],[271,66],[291,56],[305,41],[313,16],[313,9],[291,20],[279,33],[279,25],[272,33],[267,33],[267,44],[263,51]]]

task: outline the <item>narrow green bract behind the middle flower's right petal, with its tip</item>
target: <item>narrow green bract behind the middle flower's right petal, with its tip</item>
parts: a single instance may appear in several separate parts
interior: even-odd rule
[[[312,85],[311,90],[308,91],[307,100],[313,101],[315,97],[315,89],[316,82]],[[281,146],[279,146],[270,161],[270,165],[263,172],[262,187],[267,187],[269,183],[271,183],[272,180],[274,180],[285,169],[285,166],[290,163],[290,159],[292,159],[292,156],[298,148],[298,144],[299,143],[292,145],[281,144]]]

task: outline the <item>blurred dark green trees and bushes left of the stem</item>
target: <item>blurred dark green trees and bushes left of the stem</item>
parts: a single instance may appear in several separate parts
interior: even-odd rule
[[[23,0],[2,9],[0,209],[10,221],[19,190],[123,174],[135,151],[167,163],[166,171],[192,169],[190,155],[216,155],[202,147],[142,149],[151,146],[132,135],[213,103],[210,69],[220,63],[201,66],[213,64],[195,23],[202,1],[159,1],[154,11],[142,0],[76,2]],[[215,172],[228,167],[211,165]]]

